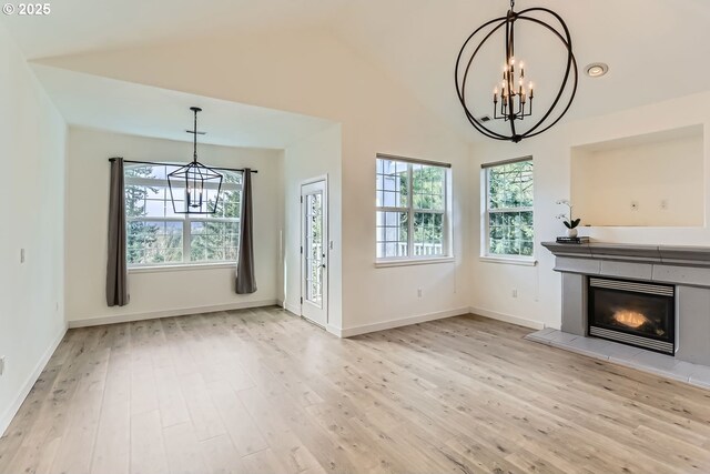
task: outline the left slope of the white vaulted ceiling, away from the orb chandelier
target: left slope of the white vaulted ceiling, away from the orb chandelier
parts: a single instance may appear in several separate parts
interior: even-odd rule
[[[324,24],[346,0],[61,0],[2,16],[30,60],[264,28]]]

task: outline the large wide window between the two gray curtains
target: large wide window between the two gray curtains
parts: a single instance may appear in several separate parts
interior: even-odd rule
[[[220,171],[222,191],[214,214],[176,214],[168,174],[179,167],[126,165],[125,218],[129,266],[235,262],[242,174]],[[173,189],[175,191],[175,189]],[[206,189],[216,198],[216,188]]]

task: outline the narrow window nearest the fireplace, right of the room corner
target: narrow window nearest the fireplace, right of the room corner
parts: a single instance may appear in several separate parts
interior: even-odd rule
[[[483,172],[485,255],[531,258],[532,159],[485,164]]]

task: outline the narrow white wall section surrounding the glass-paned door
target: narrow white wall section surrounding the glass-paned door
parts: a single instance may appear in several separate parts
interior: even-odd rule
[[[341,125],[308,137],[285,150],[284,160],[284,306],[301,314],[301,184],[327,177],[328,183],[328,330],[339,333],[343,324],[343,252],[342,238],[342,135]],[[335,242],[338,244],[336,245]]]

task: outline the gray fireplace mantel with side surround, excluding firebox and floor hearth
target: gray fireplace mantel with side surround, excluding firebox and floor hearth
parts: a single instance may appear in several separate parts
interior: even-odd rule
[[[710,246],[544,242],[562,275],[564,332],[587,336],[587,279],[676,286],[676,359],[710,365]]]

